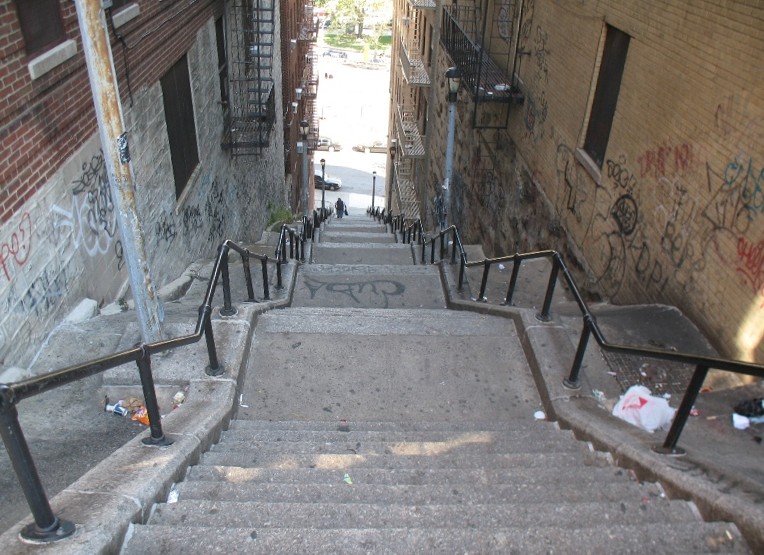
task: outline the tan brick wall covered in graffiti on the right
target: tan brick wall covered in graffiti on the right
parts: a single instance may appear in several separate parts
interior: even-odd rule
[[[592,295],[676,305],[726,355],[764,361],[764,6],[525,4],[526,98],[507,133],[472,130],[460,93],[455,212],[461,202],[466,235],[494,254],[560,250]],[[597,178],[576,150],[605,23],[631,41]],[[436,75],[449,63],[441,56]],[[431,129],[444,137],[444,108],[437,117]],[[478,158],[498,177],[476,172]]]

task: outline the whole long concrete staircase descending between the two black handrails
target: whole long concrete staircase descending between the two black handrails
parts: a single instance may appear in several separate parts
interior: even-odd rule
[[[258,317],[236,419],[125,555],[748,552],[547,421],[512,319],[446,310],[383,231],[322,232]]]

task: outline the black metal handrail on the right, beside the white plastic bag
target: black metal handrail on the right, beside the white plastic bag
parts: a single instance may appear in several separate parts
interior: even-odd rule
[[[755,364],[752,362],[723,359],[719,357],[697,355],[693,353],[669,351],[667,349],[654,349],[654,348],[648,348],[648,347],[636,347],[632,345],[620,345],[620,344],[608,342],[604,334],[602,333],[602,330],[597,325],[597,320],[594,314],[592,314],[591,310],[589,309],[589,306],[587,305],[586,301],[581,295],[575,283],[575,280],[573,279],[573,276],[570,273],[570,270],[568,269],[568,267],[565,264],[565,261],[562,258],[562,255],[560,255],[560,253],[558,253],[557,251],[544,250],[544,251],[528,252],[523,254],[515,253],[509,256],[484,259],[484,260],[476,261],[476,262],[468,262],[467,255],[464,251],[464,246],[459,236],[459,232],[456,229],[456,226],[451,226],[448,229],[441,231],[437,236],[433,237],[430,240],[431,253],[432,253],[430,258],[431,263],[433,264],[435,263],[435,244],[438,241],[440,242],[440,258],[441,259],[444,258],[444,254],[446,253],[444,241],[449,234],[451,234],[453,237],[453,248],[451,249],[451,257],[450,257],[451,264],[454,264],[456,262],[457,250],[459,252],[460,264],[459,264],[458,289],[460,291],[462,290],[462,287],[463,287],[465,269],[468,267],[483,266],[483,276],[482,276],[482,280],[480,284],[480,294],[477,297],[478,301],[485,301],[485,290],[486,290],[486,284],[488,282],[488,273],[493,264],[509,262],[509,261],[513,263],[512,275],[510,277],[509,286],[507,288],[507,296],[504,302],[502,303],[502,304],[510,304],[512,302],[512,295],[514,293],[514,289],[517,284],[517,277],[519,275],[522,261],[530,260],[534,258],[548,258],[548,259],[551,259],[552,261],[552,269],[550,271],[549,281],[547,283],[546,294],[544,295],[544,304],[542,306],[541,312],[537,315],[537,318],[541,321],[549,321],[551,319],[550,310],[552,306],[552,298],[555,292],[555,286],[557,284],[557,278],[560,272],[562,272],[562,276],[565,279],[565,282],[568,284],[568,287],[570,288],[570,292],[573,295],[579,310],[581,311],[581,315],[583,317],[583,324],[584,324],[583,329],[581,331],[581,337],[578,342],[578,348],[576,349],[576,354],[573,359],[573,366],[570,370],[570,374],[568,375],[568,377],[563,379],[563,385],[566,388],[573,389],[573,390],[578,390],[581,388],[581,384],[579,382],[579,374],[581,372],[581,365],[583,363],[584,355],[586,353],[586,347],[589,343],[589,337],[592,335],[594,336],[594,339],[597,342],[597,344],[600,346],[600,348],[608,352],[621,353],[624,355],[631,355],[631,356],[656,358],[661,360],[670,360],[673,362],[679,362],[679,363],[690,364],[695,366],[695,371],[693,372],[693,375],[690,378],[690,382],[687,385],[687,389],[685,390],[684,396],[682,397],[682,400],[679,404],[679,408],[677,409],[676,414],[674,415],[671,428],[666,434],[666,438],[663,444],[656,445],[653,447],[653,449],[658,453],[662,453],[666,455],[685,454],[685,450],[682,449],[681,447],[677,447],[677,443],[679,442],[679,436],[682,434],[682,431],[684,430],[684,427],[687,424],[687,420],[690,416],[690,411],[692,410],[692,407],[695,404],[695,401],[697,400],[698,395],[700,394],[700,389],[703,386],[703,381],[705,380],[709,369],[715,368],[717,370],[734,372],[736,374],[745,374],[749,376],[755,376],[758,378],[764,378],[764,366],[760,364]]]

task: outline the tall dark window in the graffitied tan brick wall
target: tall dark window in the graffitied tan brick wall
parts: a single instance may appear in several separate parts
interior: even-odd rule
[[[584,140],[584,151],[600,168],[605,160],[610,129],[613,126],[629,39],[629,35],[623,31],[607,26],[597,88],[594,91],[589,126]]]

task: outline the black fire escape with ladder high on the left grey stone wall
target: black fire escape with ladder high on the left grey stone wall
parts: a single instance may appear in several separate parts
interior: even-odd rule
[[[274,0],[226,3],[229,105],[222,140],[233,155],[270,144],[276,121],[273,90]]]

